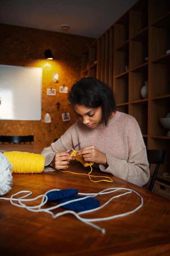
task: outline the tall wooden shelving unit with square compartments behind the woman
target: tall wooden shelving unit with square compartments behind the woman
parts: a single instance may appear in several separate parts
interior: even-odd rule
[[[94,61],[94,45],[94,76],[113,88],[118,110],[137,119],[146,147],[166,150],[159,172],[170,172],[170,137],[159,122],[170,112],[170,1],[137,1],[89,47],[86,62]],[[90,65],[82,76],[90,75]],[[143,99],[145,81],[148,97]]]

